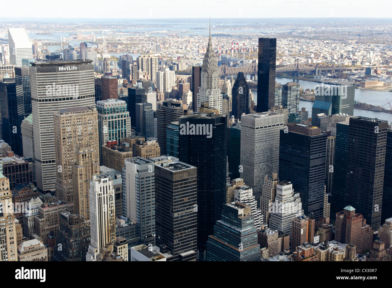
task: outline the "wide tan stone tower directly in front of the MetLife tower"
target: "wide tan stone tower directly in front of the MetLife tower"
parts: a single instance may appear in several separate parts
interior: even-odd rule
[[[94,150],[93,158],[99,163],[96,107],[67,108],[54,113],[53,127],[57,167],[56,196],[64,203],[71,204],[74,202],[72,166],[75,163],[79,146],[89,143],[90,149]],[[87,218],[87,215],[84,216]]]

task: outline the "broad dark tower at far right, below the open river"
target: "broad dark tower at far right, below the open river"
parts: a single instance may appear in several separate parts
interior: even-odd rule
[[[356,208],[373,229],[381,225],[388,122],[352,117],[348,128],[345,205]]]

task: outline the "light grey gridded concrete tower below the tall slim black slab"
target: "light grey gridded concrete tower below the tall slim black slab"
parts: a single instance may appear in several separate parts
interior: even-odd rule
[[[283,114],[263,112],[241,116],[241,178],[253,188],[258,207],[265,176],[279,168],[282,128]]]

